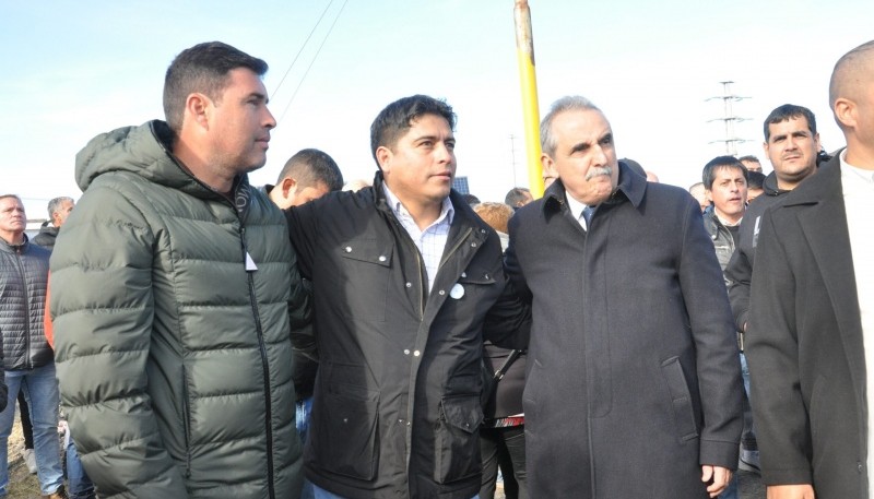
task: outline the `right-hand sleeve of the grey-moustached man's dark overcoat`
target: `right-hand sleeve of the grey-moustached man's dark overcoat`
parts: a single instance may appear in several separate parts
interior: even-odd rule
[[[685,206],[680,286],[695,345],[704,424],[700,464],[734,470],[743,429],[743,384],[736,332],[713,243],[689,198]]]

